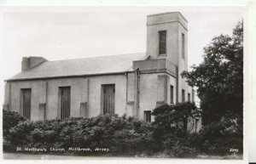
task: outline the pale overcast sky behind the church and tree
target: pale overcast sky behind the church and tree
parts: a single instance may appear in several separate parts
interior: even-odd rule
[[[1,105],[3,79],[20,72],[22,57],[59,60],[146,52],[146,16],[172,11],[180,11],[189,21],[189,65],[198,65],[203,48],[212,37],[231,35],[245,8],[73,7],[3,11]]]

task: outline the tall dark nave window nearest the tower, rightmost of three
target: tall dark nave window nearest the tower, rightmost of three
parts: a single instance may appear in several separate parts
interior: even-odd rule
[[[114,84],[102,85],[102,110],[103,115],[114,114]]]

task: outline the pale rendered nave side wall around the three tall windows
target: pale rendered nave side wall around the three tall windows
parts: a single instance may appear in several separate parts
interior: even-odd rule
[[[32,88],[32,113],[34,121],[43,120],[44,113],[39,105],[46,104],[46,119],[58,116],[59,87],[71,87],[70,116],[81,116],[81,106],[88,105],[89,116],[98,116],[102,111],[102,84],[115,84],[115,113],[122,116],[126,112],[126,77],[125,75],[90,76],[76,78],[49,79],[47,81],[8,82],[6,90],[10,110],[20,112],[20,89]],[[89,90],[88,90],[89,88]],[[8,93],[9,92],[9,93]],[[7,103],[7,102],[6,102]],[[7,105],[5,103],[5,105]],[[81,105],[82,104],[82,105]]]

